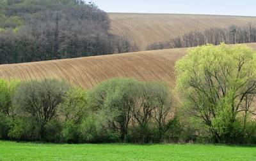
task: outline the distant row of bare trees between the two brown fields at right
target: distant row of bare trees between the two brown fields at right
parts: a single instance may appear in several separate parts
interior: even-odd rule
[[[166,42],[153,43],[148,46],[148,50],[160,50],[166,48],[188,48],[200,45],[220,45],[238,44],[238,43],[255,43],[256,26],[252,24],[237,26],[232,25],[227,29],[215,27],[205,31],[191,31],[183,36],[170,39]]]

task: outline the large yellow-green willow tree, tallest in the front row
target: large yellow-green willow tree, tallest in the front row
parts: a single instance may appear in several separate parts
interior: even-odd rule
[[[177,62],[176,70],[176,88],[189,116],[202,120],[217,142],[245,135],[255,115],[255,51],[245,45],[198,46]]]

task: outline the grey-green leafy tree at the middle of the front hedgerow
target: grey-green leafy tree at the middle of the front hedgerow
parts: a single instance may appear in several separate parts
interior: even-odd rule
[[[138,81],[132,79],[113,79],[101,83],[89,92],[91,108],[112,114],[108,114],[109,126],[120,130],[122,141],[127,136],[131,110],[135,106],[138,90],[136,84]]]

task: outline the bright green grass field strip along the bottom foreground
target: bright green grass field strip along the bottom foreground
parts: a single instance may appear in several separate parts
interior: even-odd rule
[[[202,144],[34,144],[0,141],[0,160],[256,160],[256,147]]]

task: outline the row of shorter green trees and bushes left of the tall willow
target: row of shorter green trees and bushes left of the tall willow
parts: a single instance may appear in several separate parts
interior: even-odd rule
[[[54,143],[175,141],[164,83],[113,79],[92,90],[65,81],[0,81],[0,138]]]

